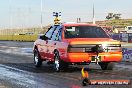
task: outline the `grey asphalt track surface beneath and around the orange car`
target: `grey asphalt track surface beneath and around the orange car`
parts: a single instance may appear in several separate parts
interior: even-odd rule
[[[126,45],[126,44],[125,44]],[[41,68],[33,64],[33,42],[0,41],[0,88],[132,88],[130,85],[82,86],[82,66],[70,66],[68,70],[55,72],[52,65],[43,63]],[[132,79],[132,63],[120,62],[110,71],[100,66],[85,66],[91,80]]]

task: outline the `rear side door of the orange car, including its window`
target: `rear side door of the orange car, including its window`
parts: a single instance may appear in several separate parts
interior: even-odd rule
[[[51,37],[51,48],[49,50],[50,52],[50,58],[51,60],[54,60],[54,50],[59,51],[60,57],[64,58],[66,56],[67,52],[67,44],[62,41],[62,26],[57,26],[56,30],[54,31],[52,37]]]

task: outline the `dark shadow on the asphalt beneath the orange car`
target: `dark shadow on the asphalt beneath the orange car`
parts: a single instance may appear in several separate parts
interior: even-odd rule
[[[2,64],[12,68],[17,68],[23,71],[28,71],[33,73],[57,73],[55,72],[53,65],[47,65],[45,63],[39,68],[36,68],[33,63],[2,63]],[[60,73],[81,72],[81,69],[82,68],[78,66],[69,66],[67,69],[61,71]],[[88,71],[89,73],[99,73],[99,74],[108,72],[107,70],[103,71],[99,68],[90,68],[90,67],[85,68],[85,71]]]

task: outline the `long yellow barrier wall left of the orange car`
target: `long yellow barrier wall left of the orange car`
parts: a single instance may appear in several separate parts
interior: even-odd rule
[[[5,41],[35,41],[38,35],[0,35],[0,40]]]

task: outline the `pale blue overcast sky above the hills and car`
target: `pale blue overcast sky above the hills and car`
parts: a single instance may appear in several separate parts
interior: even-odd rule
[[[0,28],[40,26],[41,0],[0,0]],[[109,13],[121,13],[122,18],[132,18],[132,0],[43,0],[43,25],[53,23],[53,12],[62,12],[62,21],[73,22],[81,18],[92,21],[105,20]]]

